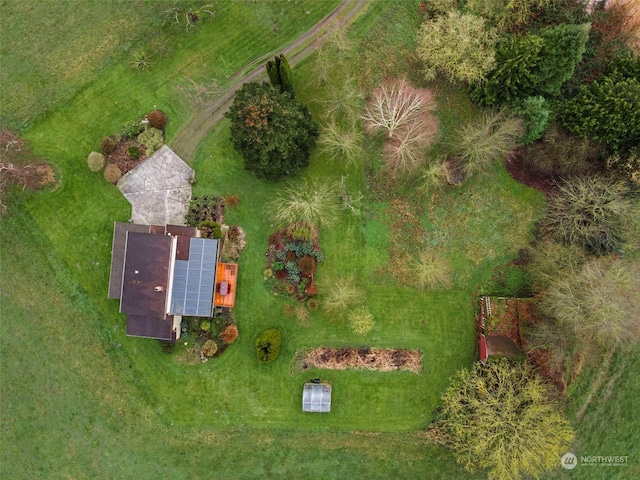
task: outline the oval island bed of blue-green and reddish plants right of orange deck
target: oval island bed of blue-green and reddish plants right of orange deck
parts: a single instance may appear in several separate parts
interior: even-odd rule
[[[317,293],[313,279],[324,258],[317,229],[294,224],[274,233],[266,257],[264,279],[274,295],[303,300]]]

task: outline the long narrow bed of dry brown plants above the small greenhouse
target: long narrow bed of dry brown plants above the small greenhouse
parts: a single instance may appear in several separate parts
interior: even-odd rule
[[[422,352],[400,348],[314,348],[296,355],[295,368],[422,372]]]

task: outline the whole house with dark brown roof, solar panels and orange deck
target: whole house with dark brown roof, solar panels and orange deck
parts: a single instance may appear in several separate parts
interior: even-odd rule
[[[237,265],[219,264],[219,242],[195,227],[115,222],[108,296],[120,300],[127,335],[175,341],[183,316],[233,307]]]

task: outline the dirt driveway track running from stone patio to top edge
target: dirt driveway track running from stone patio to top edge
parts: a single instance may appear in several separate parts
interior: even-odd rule
[[[268,59],[276,54],[284,53],[292,67],[318,48],[327,40],[332,28],[345,28],[359,13],[370,4],[369,0],[344,0],[335,10],[316,23],[310,30],[299,36],[289,45],[277,51],[269,52],[253,62],[245,65],[231,76],[236,80],[218,98],[209,101],[204,107],[194,113],[191,120],[180,130],[171,141],[171,148],[187,163],[191,163],[200,142],[222,120],[229,109],[233,97],[246,82],[266,79],[264,65]]]

